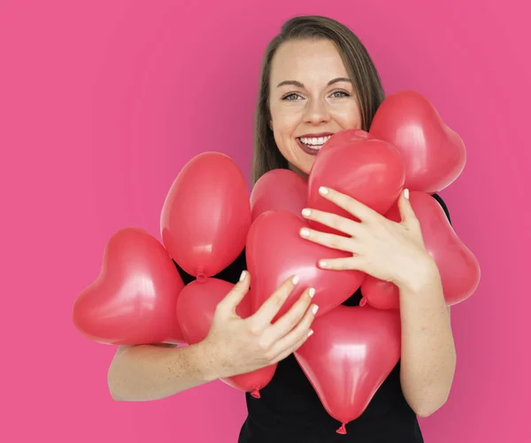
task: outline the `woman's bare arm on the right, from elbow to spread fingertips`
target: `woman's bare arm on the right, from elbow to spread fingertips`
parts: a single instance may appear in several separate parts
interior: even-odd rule
[[[319,193],[360,221],[305,209],[305,218],[347,233],[349,237],[308,228],[300,234],[328,248],[352,253],[352,256],[320,261],[320,267],[363,271],[398,287],[404,397],[419,416],[429,416],[443,405],[450,393],[456,352],[441,276],[427,253],[419,220],[409,202],[409,191],[404,190],[398,199],[400,223],[333,189],[320,188]],[[443,199],[433,196],[450,221]]]

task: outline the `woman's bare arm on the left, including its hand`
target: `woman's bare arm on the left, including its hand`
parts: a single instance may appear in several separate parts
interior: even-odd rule
[[[184,348],[120,347],[108,372],[112,397],[125,401],[162,399],[217,378],[280,362],[307,340],[315,317],[315,291],[306,288],[289,311],[271,324],[297,281],[296,277],[285,280],[257,312],[242,318],[236,309],[249,293],[250,275],[245,271],[218,303],[204,340]]]

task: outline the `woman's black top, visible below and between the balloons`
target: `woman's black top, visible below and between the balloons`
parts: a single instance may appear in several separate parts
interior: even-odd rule
[[[439,195],[447,218],[450,215]],[[194,279],[179,266],[185,284]],[[245,251],[215,278],[236,283],[247,269]],[[357,306],[358,290],[346,306]],[[400,363],[390,372],[374,394],[364,413],[346,425],[347,433],[338,434],[341,426],[328,415],[310,381],[294,355],[278,363],[271,382],[256,399],[246,393],[248,416],[242,425],[238,443],[423,443],[417,416],[404,399],[400,385]]]

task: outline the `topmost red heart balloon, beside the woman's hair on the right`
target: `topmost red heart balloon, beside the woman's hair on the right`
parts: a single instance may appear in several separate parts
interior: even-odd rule
[[[465,143],[418,92],[389,95],[376,111],[369,132],[400,151],[406,166],[404,187],[412,191],[439,192],[465,168]]]

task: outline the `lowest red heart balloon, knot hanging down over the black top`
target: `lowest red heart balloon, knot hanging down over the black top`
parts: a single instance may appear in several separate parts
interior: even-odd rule
[[[369,306],[338,306],[316,318],[295,357],[330,416],[342,426],[366,410],[400,359],[400,315]]]

